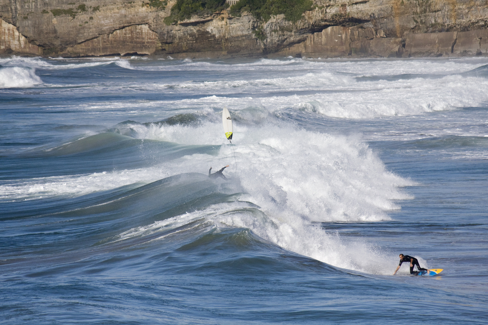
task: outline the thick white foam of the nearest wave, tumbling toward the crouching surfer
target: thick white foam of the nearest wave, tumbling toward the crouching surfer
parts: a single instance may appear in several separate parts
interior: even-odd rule
[[[389,275],[398,264],[397,258],[380,247],[360,239],[345,240],[337,233],[326,232],[320,225],[291,215],[256,216],[245,210],[231,213],[227,210],[216,215],[206,213],[205,217],[216,225],[251,229],[280,247],[339,268]],[[406,272],[407,268],[403,268],[400,273]]]

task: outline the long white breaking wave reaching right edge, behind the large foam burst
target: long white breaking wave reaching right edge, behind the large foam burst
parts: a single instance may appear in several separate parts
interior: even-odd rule
[[[345,94],[317,94],[295,104],[294,109],[338,118],[418,115],[458,107],[473,107],[488,100],[488,80],[445,76],[394,82],[365,82],[364,89]],[[366,86],[366,85],[365,85]]]

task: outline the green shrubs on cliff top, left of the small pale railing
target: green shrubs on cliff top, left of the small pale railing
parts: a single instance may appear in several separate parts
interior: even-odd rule
[[[209,15],[228,7],[225,0],[177,0],[171,8],[171,16],[164,22],[170,25],[179,20],[189,19],[193,15]]]

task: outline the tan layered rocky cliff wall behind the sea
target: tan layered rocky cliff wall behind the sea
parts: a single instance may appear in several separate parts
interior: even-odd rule
[[[172,57],[488,55],[487,0],[314,0],[296,22],[223,10],[166,25],[176,0],[0,0],[0,54]]]

